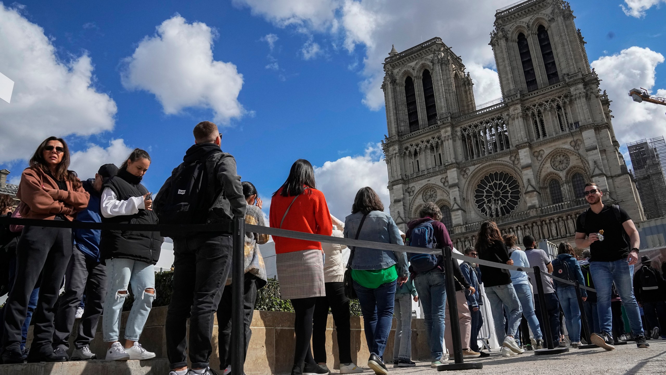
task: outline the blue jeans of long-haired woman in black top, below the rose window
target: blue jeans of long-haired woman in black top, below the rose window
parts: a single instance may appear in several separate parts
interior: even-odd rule
[[[493,314],[495,334],[498,337],[498,342],[503,342],[507,336],[506,332],[513,336],[520,325],[522,314],[520,301],[515,294],[513,284],[486,286],[486,296],[488,296],[488,303]],[[506,331],[504,331],[504,308],[507,309],[508,317]]]

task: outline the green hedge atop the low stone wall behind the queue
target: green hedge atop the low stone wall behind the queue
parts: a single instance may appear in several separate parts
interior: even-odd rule
[[[153,301],[153,307],[168,306],[171,302],[171,285],[173,280],[172,271],[155,272],[155,290],[157,297]],[[125,298],[123,311],[129,311],[134,303],[132,288],[129,288],[129,296]],[[294,312],[294,307],[289,300],[280,299],[280,283],[275,279],[269,279],[268,284],[256,293],[254,310]],[[358,300],[350,303],[350,314],[361,315],[361,307]]]

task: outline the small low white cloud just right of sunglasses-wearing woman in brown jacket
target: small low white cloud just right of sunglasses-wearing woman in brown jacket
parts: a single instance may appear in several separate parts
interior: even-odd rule
[[[89,144],[87,149],[72,153],[69,169],[77,172],[82,180],[93,178],[101,165],[114,163],[120,166],[131,151],[123,139],[113,139],[107,148]]]

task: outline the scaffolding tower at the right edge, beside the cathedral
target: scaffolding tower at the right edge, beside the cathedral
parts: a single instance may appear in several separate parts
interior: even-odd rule
[[[627,143],[633,177],[648,219],[666,216],[666,141],[664,137]]]

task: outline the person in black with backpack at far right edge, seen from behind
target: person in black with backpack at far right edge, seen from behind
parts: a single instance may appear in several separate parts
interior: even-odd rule
[[[652,267],[651,262],[648,256],[641,256],[641,268],[633,275],[633,293],[636,302],[643,306],[647,327],[651,330],[652,338],[656,340],[660,332],[666,333],[663,332],[666,329],[666,285],[661,272]]]

